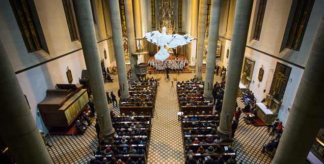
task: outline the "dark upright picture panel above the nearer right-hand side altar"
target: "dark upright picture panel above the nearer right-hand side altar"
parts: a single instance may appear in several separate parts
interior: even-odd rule
[[[291,67],[277,62],[269,94],[279,101],[285,94],[290,72]]]

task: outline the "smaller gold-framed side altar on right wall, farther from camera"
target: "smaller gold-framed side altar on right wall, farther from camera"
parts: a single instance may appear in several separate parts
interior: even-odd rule
[[[255,61],[249,57],[244,58],[243,69],[241,73],[241,83],[246,86],[250,87],[250,83],[252,81],[252,75],[254,70]]]

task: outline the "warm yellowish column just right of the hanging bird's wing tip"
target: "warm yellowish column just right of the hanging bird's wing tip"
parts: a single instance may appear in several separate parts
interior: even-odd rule
[[[202,80],[202,66],[203,66],[203,53],[205,42],[205,30],[206,30],[206,0],[199,1],[199,18],[198,18],[198,43],[196,54],[196,78]]]

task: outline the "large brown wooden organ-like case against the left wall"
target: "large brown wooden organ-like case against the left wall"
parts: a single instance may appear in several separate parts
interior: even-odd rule
[[[58,89],[46,91],[46,97],[37,106],[48,129],[70,126],[89,102],[83,85],[57,84]]]

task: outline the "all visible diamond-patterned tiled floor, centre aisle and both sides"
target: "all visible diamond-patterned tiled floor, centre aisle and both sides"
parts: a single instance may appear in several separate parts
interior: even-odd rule
[[[149,148],[148,163],[184,163],[183,141],[180,130],[180,123],[177,121],[178,103],[176,88],[171,88],[171,81],[165,80],[165,74],[152,74],[148,77],[160,77],[160,86],[157,89],[155,104],[155,117],[152,119],[151,142]],[[193,78],[194,73],[171,74],[170,79],[176,78],[179,81]],[[118,91],[118,77],[114,83],[106,83],[106,91]],[[204,78],[204,74],[203,74]],[[220,76],[215,76],[215,81]],[[242,105],[239,103],[239,105]],[[117,115],[119,110],[112,107]],[[241,119],[236,131],[236,139],[233,147],[237,150],[237,159],[242,163],[271,163],[268,155],[260,152],[263,144],[269,142],[272,136],[266,133],[265,127],[254,127],[247,125]],[[89,127],[84,135],[75,136],[51,136],[52,147],[48,151],[55,163],[87,163],[89,157],[97,147],[96,132],[94,124]]]

